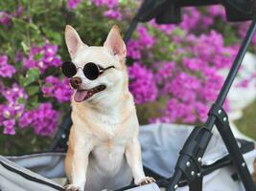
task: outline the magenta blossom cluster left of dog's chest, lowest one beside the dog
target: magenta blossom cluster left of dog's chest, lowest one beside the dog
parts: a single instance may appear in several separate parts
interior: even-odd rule
[[[35,134],[50,136],[57,127],[58,116],[51,103],[41,103],[38,108],[23,113],[19,118],[19,127],[33,127]]]

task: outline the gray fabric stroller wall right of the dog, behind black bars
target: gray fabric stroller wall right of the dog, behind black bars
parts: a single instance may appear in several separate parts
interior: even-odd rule
[[[179,151],[193,128],[189,125],[166,123],[141,126],[139,139],[143,164],[162,177],[172,176]],[[212,164],[225,155],[227,155],[227,151],[221,136],[214,135],[202,163]]]

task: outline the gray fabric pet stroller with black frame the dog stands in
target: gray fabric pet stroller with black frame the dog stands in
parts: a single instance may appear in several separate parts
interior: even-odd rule
[[[255,142],[234,138],[228,117],[221,107],[256,31],[256,1],[145,0],[128,28],[125,41],[138,22],[155,18],[159,24],[178,23],[181,7],[218,3],[224,6],[228,21],[253,21],[206,122],[195,128],[161,123],[141,126],[139,138],[144,169],[156,182],[139,187],[128,185],[116,191],[156,191],[160,190],[159,187],[168,191],[256,191],[250,177],[252,160],[256,156]],[[51,179],[65,177],[63,159],[71,123],[67,114],[47,153],[0,157],[0,190],[64,190]],[[220,135],[212,133],[214,125]]]

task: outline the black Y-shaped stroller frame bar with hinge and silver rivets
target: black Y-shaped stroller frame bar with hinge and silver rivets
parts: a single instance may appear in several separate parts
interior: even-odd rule
[[[174,176],[169,179],[166,185],[168,191],[174,191],[177,189],[178,181],[182,177],[185,177],[185,179],[190,182],[190,190],[195,190],[195,184],[198,184],[198,179],[201,179],[200,159],[203,156],[206,147],[212,137],[211,131],[214,124],[216,124],[218,131],[221,134],[221,138],[223,139],[232,162],[237,169],[239,177],[244,183],[245,190],[256,190],[246,163],[244,162],[243,155],[237,144],[236,138],[234,137],[229,126],[228,117],[221,107],[235,79],[235,76],[239,71],[244,58],[244,54],[246,53],[246,50],[255,31],[256,20],[251,22],[240,51],[237,54],[231,70],[225,79],[216,102],[212,105],[212,108],[209,111],[209,117],[207,118],[205,124],[202,125],[201,128],[195,128],[193,130],[192,134],[189,138],[187,138],[182,150],[180,151],[180,155],[175,166]]]

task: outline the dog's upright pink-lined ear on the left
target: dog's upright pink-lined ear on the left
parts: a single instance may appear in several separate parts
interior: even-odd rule
[[[67,25],[65,29],[65,41],[71,58],[75,57],[82,46],[87,46],[83,44],[78,32],[70,25]]]

